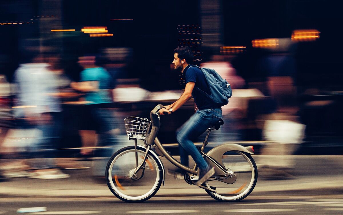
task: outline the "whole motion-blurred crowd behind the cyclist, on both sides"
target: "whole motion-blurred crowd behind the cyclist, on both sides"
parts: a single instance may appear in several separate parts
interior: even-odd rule
[[[290,155],[306,134],[316,132],[317,122],[330,126],[330,110],[338,113],[334,105],[340,100],[316,100],[314,96],[325,95],[320,89],[299,87],[293,45],[290,40],[287,44],[250,56],[215,53],[200,64],[215,69],[233,88],[229,104],[223,106],[224,125],[209,138],[213,146],[255,141],[263,143],[260,154]],[[61,169],[85,168],[59,163],[60,156],[92,159],[93,176],[104,178],[108,158],[133,144],[125,135],[123,119],[130,115],[149,117],[153,106],[175,101],[182,94],[181,90],[151,92],[140,85],[139,78],[128,78],[130,48],[107,48],[78,56],[74,63],[81,69],[79,75],[72,73],[74,77],[67,73],[61,55],[27,52],[11,82],[0,75],[2,178],[68,178]],[[172,69],[167,72],[177,73]],[[307,100],[299,100],[304,97]],[[175,143],[176,128],[193,111],[190,101],[175,117],[161,119],[161,142]],[[328,117],[314,118],[320,112]],[[338,134],[332,125],[320,132],[328,130],[333,136]],[[203,138],[194,141],[202,142]],[[287,169],[292,165],[290,160],[277,158],[265,161],[263,167]]]

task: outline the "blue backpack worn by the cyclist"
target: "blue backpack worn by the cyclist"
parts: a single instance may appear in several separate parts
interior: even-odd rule
[[[229,102],[228,99],[231,98],[232,96],[231,85],[227,83],[226,79],[223,79],[214,69],[200,68],[199,66],[196,66],[196,67],[198,67],[204,74],[205,79],[210,88],[211,94],[209,95],[205,93],[203,90],[201,90],[198,87],[196,87],[196,90],[198,90],[199,92],[204,94],[206,97],[213,100],[214,103],[220,106],[226,105]]]

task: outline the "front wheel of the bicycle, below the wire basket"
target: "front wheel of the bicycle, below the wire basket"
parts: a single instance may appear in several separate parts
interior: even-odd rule
[[[144,154],[145,150],[137,148],[138,165]],[[107,163],[108,188],[116,197],[126,202],[143,202],[150,199],[163,180],[163,168],[157,159],[149,152],[145,164],[139,170],[139,177],[131,179],[129,174],[137,167],[134,146],[120,149]]]

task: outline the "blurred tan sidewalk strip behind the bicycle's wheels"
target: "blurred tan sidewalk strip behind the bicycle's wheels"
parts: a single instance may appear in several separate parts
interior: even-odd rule
[[[275,156],[274,156],[275,157]],[[255,155],[258,166],[265,157]],[[288,156],[289,159],[289,156]],[[296,195],[304,191],[331,190],[341,192],[343,176],[343,156],[291,156],[298,168],[291,170],[292,179],[267,179],[265,168],[259,169],[259,179],[251,195],[289,191]],[[164,158],[165,168],[171,168]],[[68,161],[68,159],[67,159]],[[69,159],[73,161],[73,159]],[[91,166],[91,161],[81,161],[84,166]],[[29,179],[12,178],[0,182],[0,195],[9,197],[113,197],[107,185],[97,183],[91,177],[91,169],[66,169],[70,174],[68,179]],[[289,171],[288,171],[289,172]],[[191,194],[190,194],[191,193]],[[207,193],[196,186],[188,185],[185,181],[177,181],[166,174],[165,187],[163,185],[155,197],[166,196],[202,196]]]

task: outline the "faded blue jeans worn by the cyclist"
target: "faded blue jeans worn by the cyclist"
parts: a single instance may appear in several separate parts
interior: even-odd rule
[[[208,167],[208,164],[192,140],[199,137],[221,117],[221,108],[197,110],[197,112],[176,131],[176,139],[179,142],[180,159],[183,165],[189,165],[188,155],[191,155],[193,160],[198,164],[199,169],[206,169]]]

